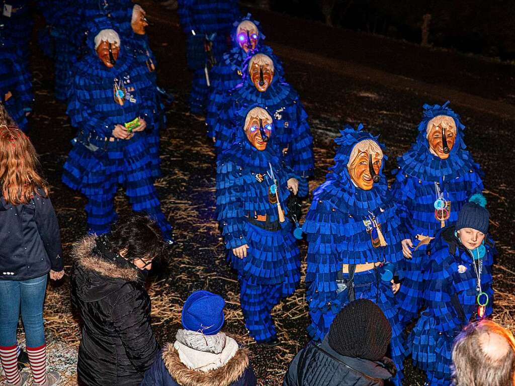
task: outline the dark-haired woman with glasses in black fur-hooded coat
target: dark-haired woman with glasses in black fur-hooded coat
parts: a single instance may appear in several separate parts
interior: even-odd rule
[[[148,217],[121,218],[105,235],[74,248],[72,302],[83,321],[77,374],[88,386],[139,385],[159,352],[145,290],[152,260],[163,252]]]

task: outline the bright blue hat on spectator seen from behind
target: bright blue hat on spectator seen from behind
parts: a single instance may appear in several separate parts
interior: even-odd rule
[[[204,335],[215,335],[224,325],[225,300],[209,291],[195,291],[182,307],[182,326]]]

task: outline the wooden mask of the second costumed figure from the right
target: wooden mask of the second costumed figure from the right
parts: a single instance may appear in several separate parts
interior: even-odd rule
[[[383,164],[383,151],[372,139],[358,142],[352,149],[347,169],[351,180],[358,188],[370,190],[379,182]]]

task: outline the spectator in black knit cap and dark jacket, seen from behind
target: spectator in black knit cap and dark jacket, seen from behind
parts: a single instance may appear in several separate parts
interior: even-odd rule
[[[320,345],[307,344],[290,363],[283,386],[380,386],[397,370],[385,357],[391,327],[381,308],[358,299],[336,315]]]

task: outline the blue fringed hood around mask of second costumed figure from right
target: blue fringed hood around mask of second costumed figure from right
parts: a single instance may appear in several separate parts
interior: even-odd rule
[[[354,146],[356,146],[359,142],[364,141],[365,139],[371,139],[374,141],[383,151],[383,163],[381,165],[381,169],[379,170],[379,175],[382,176],[384,169],[384,161],[388,159],[386,154],[384,153],[385,146],[384,144],[379,142],[379,135],[374,136],[363,130],[363,124],[359,124],[357,129],[354,129],[350,125],[345,125],[343,130],[340,130],[340,136],[334,139],[334,142],[339,145],[338,150],[336,151],[336,155],[334,157],[335,165],[330,168],[331,173],[338,174],[338,176],[348,179],[350,181],[350,174],[347,169],[347,164],[349,163],[350,155]],[[385,179],[382,178],[382,181]]]

